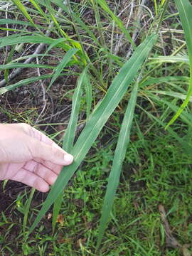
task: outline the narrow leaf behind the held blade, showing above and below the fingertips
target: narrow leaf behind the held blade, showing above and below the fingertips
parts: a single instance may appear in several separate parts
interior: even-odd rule
[[[68,153],[71,152],[73,149],[73,143],[75,140],[75,131],[78,124],[78,114],[80,111],[80,100],[82,96],[82,85],[85,82],[87,73],[87,68],[83,70],[82,74],[80,75],[80,78],[78,80],[78,86],[75,89],[74,95],[73,95],[73,103],[72,103],[72,111],[70,115],[70,121],[68,124],[68,128],[65,132],[65,135],[63,137],[63,149],[68,151]],[[58,218],[58,214],[60,212],[60,206],[63,200],[63,192],[60,193],[58,198],[56,199],[54,205],[53,205],[53,219],[52,219],[52,228],[53,232],[55,230],[56,221]]]

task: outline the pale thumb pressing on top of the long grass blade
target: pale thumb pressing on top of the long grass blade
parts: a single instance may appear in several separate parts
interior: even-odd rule
[[[50,161],[51,163],[58,165],[69,165],[73,162],[73,156],[61,149],[60,146],[54,142],[53,144],[48,145],[44,142],[40,142],[38,139],[33,139],[29,146],[33,158]]]

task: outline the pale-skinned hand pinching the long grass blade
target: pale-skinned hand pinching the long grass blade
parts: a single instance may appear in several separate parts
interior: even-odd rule
[[[73,156],[28,124],[0,124],[0,180],[47,192]]]

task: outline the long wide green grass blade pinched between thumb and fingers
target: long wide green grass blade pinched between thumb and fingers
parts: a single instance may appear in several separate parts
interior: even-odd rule
[[[74,156],[73,164],[67,167],[65,166],[65,170],[60,172],[60,175],[51,188],[45,203],[43,203],[41,211],[38,213],[36,220],[31,226],[29,233],[36,228],[36,225],[41,218],[43,218],[43,215],[45,215],[50,206],[54,203],[58,194],[60,194],[65,186],[67,186],[68,181],[78,169],[81,161],[91,148],[92,143],[95,142],[95,139],[97,139],[97,136],[107,122],[107,119],[115,110],[120,100],[122,100],[122,97],[127,91],[129,84],[132,82],[135,75],[137,75],[137,71],[144,63],[144,60],[147,58],[151,48],[154,46],[156,38],[157,37],[154,34],[146,38],[146,40],[137,48],[137,50],[135,50],[127,63],[124,64],[123,68],[119,70],[119,74],[112,81],[112,84],[107,90],[102,102],[95,107],[95,110],[90,116],[90,120],[82,130],[78,141],[75,143],[75,146],[71,151],[71,154]]]

